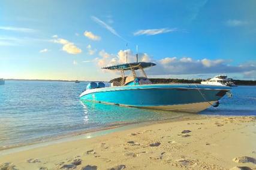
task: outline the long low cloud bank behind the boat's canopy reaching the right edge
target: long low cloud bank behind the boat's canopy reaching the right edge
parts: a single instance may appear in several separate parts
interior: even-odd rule
[[[136,55],[131,50],[119,50],[118,54],[109,54],[101,50],[99,52],[98,66],[113,66],[116,64],[128,63],[136,61]],[[147,70],[149,75],[195,75],[195,74],[219,74],[219,73],[243,73],[245,76],[255,76],[256,63],[249,62],[240,64],[239,66],[231,66],[230,60],[210,60],[204,58],[202,60],[193,60],[189,57],[165,57],[160,60],[153,60],[146,53],[138,54],[138,61],[152,61],[156,66]]]

